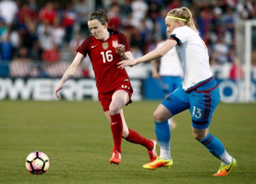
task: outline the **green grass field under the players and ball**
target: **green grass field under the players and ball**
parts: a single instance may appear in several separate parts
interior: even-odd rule
[[[152,112],[159,101],[124,108],[129,128],[155,138]],[[172,168],[149,171],[147,150],[123,141],[122,162],[109,164],[112,136],[101,106],[93,101],[0,101],[0,183],[256,183],[256,104],[220,104],[210,130],[238,161],[238,168],[213,177],[220,161],[192,138],[188,111],[175,117]],[[26,156],[44,151],[49,171],[32,175]]]

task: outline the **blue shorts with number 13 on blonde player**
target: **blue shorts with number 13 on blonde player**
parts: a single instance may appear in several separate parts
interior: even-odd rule
[[[179,86],[162,104],[174,116],[189,108],[192,127],[208,128],[215,108],[220,102],[220,90],[214,79],[192,91],[185,91]]]

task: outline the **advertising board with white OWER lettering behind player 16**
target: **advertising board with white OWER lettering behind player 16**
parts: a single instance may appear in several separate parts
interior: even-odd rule
[[[59,79],[4,79],[0,78],[0,100],[56,100],[54,88]],[[132,80],[134,95],[132,100],[142,99],[141,80]],[[92,98],[98,100],[97,88],[94,79],[70,79],[60,91],[66,100],[83,100]]]

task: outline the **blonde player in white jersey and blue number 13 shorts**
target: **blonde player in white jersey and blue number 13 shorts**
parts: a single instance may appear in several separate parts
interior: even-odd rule
[[[225,176],[237,166],[237,161],[225,150],[221,141],[210,134],[209,125],[220,101],[220,91],[212,77],[207,47],[198,35],[188,8],[176,8],[165,18],[169,39],[159,47],[138,59],[119,62],[119,67],[134,66],[164,56],[175,47],[184,71],[184,81],[154,112],[155,133],[160,146],[160,156],[143,165],[147,169],[170,167],[173,164],[170,148],[171,132],[168,118],[189,109],[192,117],[192,135],[212,155],[221,160],[220,169],[214,176]]]

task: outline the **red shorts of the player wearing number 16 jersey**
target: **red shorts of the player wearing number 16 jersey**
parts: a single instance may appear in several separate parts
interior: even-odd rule
[[[132,90],[131,84],[121,85],[121,86],[115,88],[115,90],[109,91],[107,93],[99,93],[98,94],[99,102],[101,103],[101,106],[102,106],[102,109],[104,112],[109,110],[109,105],[112,101],[112,96],[115,93],[115,91],[118,91],[118,90],[127,91],[128,95],[129,95],[129,101],[126,105],[132,103],[131,97],[132,97],[133,90]]]

